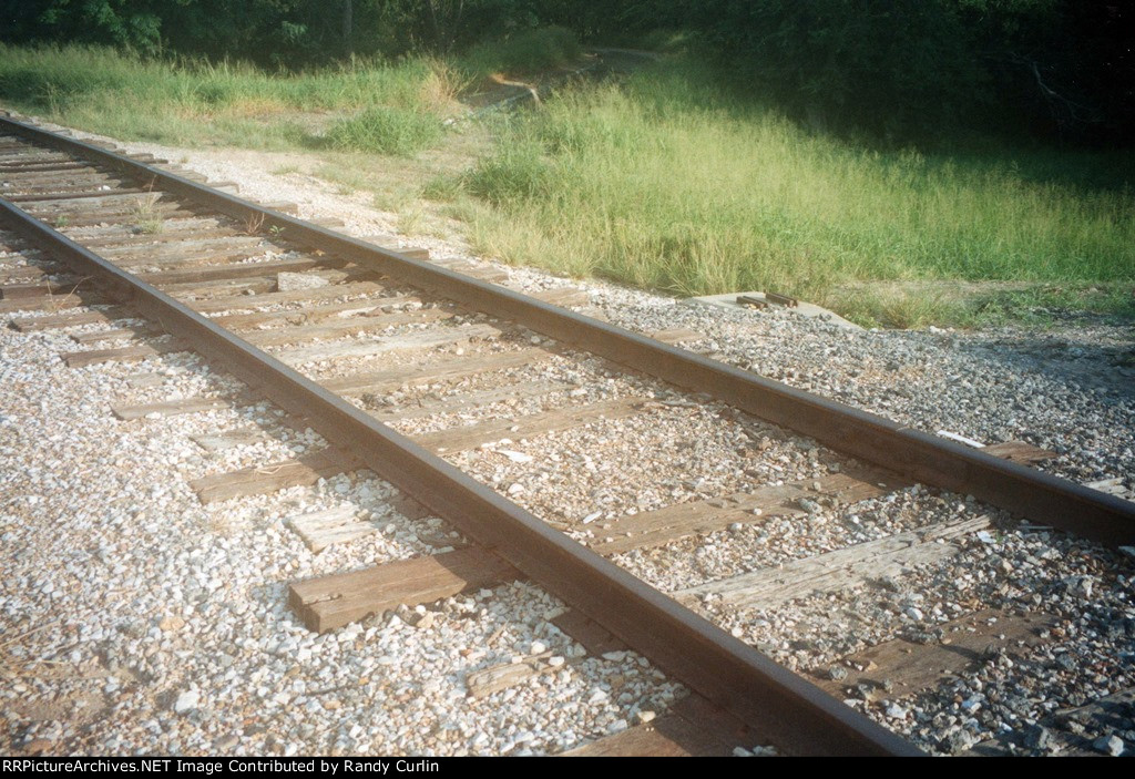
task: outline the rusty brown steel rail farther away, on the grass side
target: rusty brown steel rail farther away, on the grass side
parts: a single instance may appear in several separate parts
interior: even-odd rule
[[[1111,545],[1135,541],[1135,503],[875,414],[661,344],[523,294],[266,209],[99,146],[0,116],[0,129],[128,171],[216,211],[331,252],[401,282],[426,288],[494,316],[511,319],[679,387],[711,395],[773,424],[858,459],[933,486],[972,494],[1035,522]]]

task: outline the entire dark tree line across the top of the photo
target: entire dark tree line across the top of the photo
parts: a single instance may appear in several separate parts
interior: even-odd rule
[[[738,86],[832,129],[1135,137],[1135,0],[0,0],[5,41],[293,69],[548,24],[608,41],[687,31]]]

